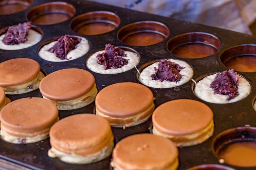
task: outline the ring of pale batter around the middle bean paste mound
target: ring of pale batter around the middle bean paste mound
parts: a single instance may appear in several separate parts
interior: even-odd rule
[[[127,58],[123,57],[124,59],[128,59],[127,65],[124,65],[121,68],[116,68],[116,69],[110,68],[110,69],[105,70],[103,68],[103,65],[100,65],[97,63],[97,58],[96,58],[98,54],[102,54],[103,51],[105,50],[105,48],[101,48],[101,49],[98,49],[98,50],[92,52],[91,54],[89,54],[86,57],[86,59],[85,59],[86,67],[89,70],[91,70],[95,73],[99,73],[99,74],[118,74],[118,73],[122,73],[125,71],[129,71],[134,68],[134,65],[137,66],[140,63],[140,53],[138,51],[136,51],[132,48],[129,48],[129,47],[123,47],[123,46],[115,46],[115,47],[123,49],[124,51],[131,52],[126,55]]]

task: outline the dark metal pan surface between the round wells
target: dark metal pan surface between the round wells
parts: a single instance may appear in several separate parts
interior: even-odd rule
[[[1,21],[0,29],[6,26],[16,25],[18,23],[28,21],[26,19],[27,11],[32,7],[38,4],[42,4],[44,2],[50,2],[50,1],[35,0],[32,6],[30,6],[25,11],[18,12],[12,15],[0,15],[0,21]],[[190,65],[192,65],[192,68],[194,69],[193,79],[196,79],[202,75],[209,74],[212,72],[228,70],[228,68],[224,66],[220,61],[220,54],[226,49],[231,48],[233,46],[241,45],[241,44],[256,43],[256,38],[251,35],[236,33],[236,32],[223,30],[215,27],[194,24],[186,21],[175,20],[171,18],[156,16],[156,15],[137,12],[137,11],[131,11],[127,9],[117,8],[117,7],[111,7],[105,4],[103,5],[103,4],[97,4],[97,3],[87,2],[87,1],[75,1],[75,0],[67,0],[65,2],[72,4],[76,8],[76,13],[72,18],[90,11],[111,11],[116,13],[120,17],[121,23],[115,30],[109,33],[100,34],[100,35],[80,35],[73,32],[70,28],[70,21],[72,20],[72,18],[70,18],[65,22],[55,24],[55,25],[33,24],[35,26],[40,27],[43,30],[44,32],[43,39],[36,45],[29,48],[21,49],[21,50],[8,51],[8,50],[0,49],[0,62],[13,59],[13,58],[20,58],[20,57],[32,58],[38,61],[40,63],[41,68],[45,70],[48,74],[56,70],[65,69],[65,68],[80,68],[80,69],[88,70],[87,67],[85,66],[85,59],[87,55],[89,55],[95,50],[104,48],[105,44],[111,43],[115,46],[130,47],[138,51],[140,53],[141,60],[137,68],[139,68],[141,65],[147,62],[150,62],[152,60],[156,60],[159,58],[181,59],[189,63]],[[127,24],[138,22],[138,21],[144,21],[144,20],[152,20],[152,21],[163,23],[170,29],[170,35],[163,42],[160,42],[155,45],[146,46],[146,47],[133,47],[133,46],[125,45],[124,43],[120,42],[117,39],[117,32],[120,28],[122,28]],[[189,32],[205,32],[205,33],[211,33],[215,35],[221,41],[222,45],[220,50],[214,55],[204,57],[204,58],[198,58],[198,59],[179,58],[177,56],[172,55],[166,47],[168,40],[176,35],[189,33]],[[37,48],[41,43],[43,43],[44,41],[50,38],[62,36],[64,34],[85,37],[91,45],[89,52],[78,59],[71,60],[68,62],[49,62],[41,59],[37,55]],[[90,72],[94,75],[96,80],[96,85],[99,90],[104,88],[103,85],[108,86],[108,85],[119,83],[119,82],[140,83],[136,77],[135,69],[129,70],[124,73],[113,74],[113,75],[98,74],[92,71]],[[154,97],[156,99],[154,101],[156,107],[170,100],[193,99],[193,100],[198,100],[207,104],[213,110],[214,124],[215,124],[213,136],[202,144],[198,144],[196,146],[191,146],[191,147],[179,148],[180,165],[178,169],[183,170],[183,169],[187,169],[189,167],[201,165],[201,164],[220,164],[218,158],[216,158],[212,152],[211,145],[212,145],[213,139],[219,133],[221,133],[226,129],[230,129],[238,126],[244,126],[246,124],[251,126],[256,126],[256,121],[255,121],[256,111],[253,109],[253,101],[256,96],[255,72],[245,73],[245,72],[237,71],[237,73],[245,77],[251,83],[252,91],[249,94],[249,96],[247,96],[245,99],[235,103],[230,103],[230,104],[212,104],[212,103],[208,103],[198,99],[194,95],[193,91],[191,90],[191,87],[193,84],[192,81],[189,81],[184,85],[180,85],[179,86],[180,91],[175,91],[174,88],[168,88],[168,89],[150,88],[151,91],[154,93]],[[12,101],[19,98],[23,98],[23,97],[33,97],[33,96],[39,97],[40,96],[39,90],[25,93],[25,94],[20,94],[20,95],[7,95],[7,97],[9,97]],[[61,119],[69,115],[74,115],[79,113],[93,113],[94,106],[95,104],[92,103],[80,109],[60,111],[59,116]],[[149,133],[150,124],[151,124],[151,120],[148,120],[147,122],[141,125],[137,125],[131,128],[126,128],[125,130],[123,130],[122,128],[112,128],[112,130],[117,141],[120,141],[122,138],[132,134]],[[48,149],[50,149],[49,138],[44,141],[37,142],[35,144],[24,144],[24,145],[10,144],[3,140],[0,140],[0,158],[18,163],[20,165],[26,166],[31,169],[67,169],[67,170],[68,169],[88,169],[88,170],[109,169],[109,161],[111,156],[108,157],[107,159],[104,159],[100,162],[96,162],[93,164],[72,165],[72,164],[63,163],[58,159],[49,158],[47,156]],[[225,164],[225,163],[223,165],[229,166],[228,164]],[[239,169],[241,170],[255,169],[255,167],[251,167],[251,168],[235,167],[235,166],[229,166],[229,167],[233,167],[238,170]]]

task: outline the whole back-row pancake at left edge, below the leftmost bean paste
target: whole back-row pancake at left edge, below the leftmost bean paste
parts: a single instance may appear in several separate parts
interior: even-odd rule
[[[0,86],[5,94],[36,90],[43,77],[39,63],[29,58],[16,58],[0,63]]]

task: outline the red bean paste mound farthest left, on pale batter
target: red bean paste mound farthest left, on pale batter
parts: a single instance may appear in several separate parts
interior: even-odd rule
[[[30,28],[31,28],[30,22],[24,22],[16,26],[10,26],[7,32],[5,33],[2,42],[5,45],[25,43],[25,41],[28,40],[26,36],[28,35],[28,30]]]

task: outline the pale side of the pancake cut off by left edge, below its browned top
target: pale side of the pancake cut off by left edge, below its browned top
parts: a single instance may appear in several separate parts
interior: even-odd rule
[[[31,92],[39,88],[39,84],[44,78],[44,74],[40,71],[39,74],[32,81],[28,83],[24,83],[22,85],[13,85],[2,87],[5,91],[5,94],[23,94],[27,92]],[[28,88],[29,85],[32,85],[32,88]]]

